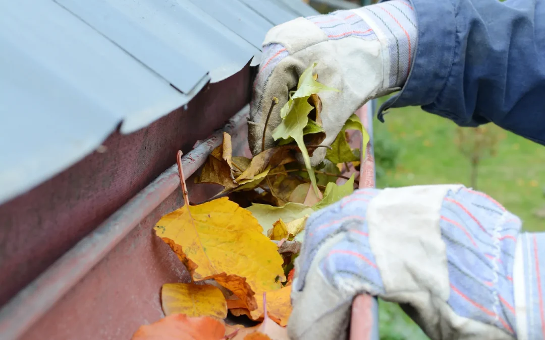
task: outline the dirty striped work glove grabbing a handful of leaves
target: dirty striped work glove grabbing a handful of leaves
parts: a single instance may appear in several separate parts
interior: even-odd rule
[[[340,90],[319,92],[323,145],[330,145],[346,120],[368,100],[398,90],[405,83],[416,47],[416,17],[410,3],[392,0],[355,10],[341,10],[273,27],[263,42],[263,57],[250,103],[249,142],[262,151],[265,120],[278,103],[265,132],[265,149],[274,146],[272,132],[281,123],[280,109],[301,73],[317,62],[318,81]],[[313,153],[312,165],[325,156]]]

